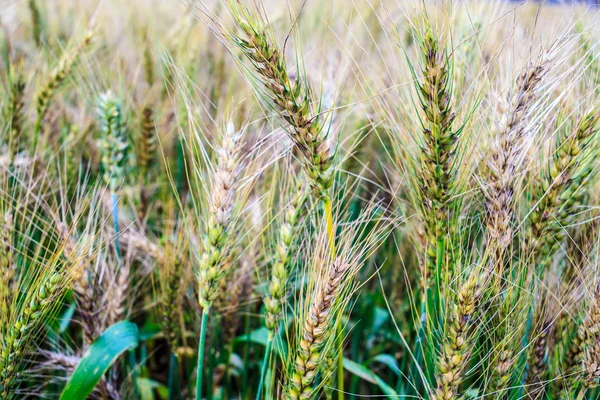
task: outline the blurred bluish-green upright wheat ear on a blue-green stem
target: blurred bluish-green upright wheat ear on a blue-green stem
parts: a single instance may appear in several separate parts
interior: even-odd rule
[[[110,91],[98,98],[98,121],[102,132],[102,177],[114,193],[125,177],[129,144],[121,102]]]

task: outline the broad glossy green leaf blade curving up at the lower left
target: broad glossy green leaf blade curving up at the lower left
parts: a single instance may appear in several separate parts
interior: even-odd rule
[[[87,398],[117,358],[138,345],[139,336],[137,326],[128,321],[121,321],[109,327],[81,357],[60,400]]]

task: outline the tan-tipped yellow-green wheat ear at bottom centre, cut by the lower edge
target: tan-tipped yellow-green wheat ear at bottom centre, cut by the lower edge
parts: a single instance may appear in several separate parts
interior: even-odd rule
[[[315,380],[324,357],[323,346],[336,334],[332,326],[335,317],[332,307],[350,268],[346,261],[334,260],[327,281],[319,285],[311,296],[310,307],[302,321],[300,342],[296,346],[293,373],[285,390],[286,399],[315,398]]]

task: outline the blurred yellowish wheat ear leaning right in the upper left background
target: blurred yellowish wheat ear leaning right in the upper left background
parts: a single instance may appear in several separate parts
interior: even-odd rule
[[[81,55],[90,47],[93,37],[94,32],[88,32],[80,43],[73,47],[73,49],[65,52],[58,61],[58,65],[50,73],[49,79],[42,85],[42,88],[38,91],[36,98],[37,119],[33,131],[32,146],[34,149],[34,153],[37,149],[39,135],[42,128],[42,121],[44,119],[44,116],[46,115],[46,112],[48,112],[48,107],[50,106],[50,102],[54,97],[56,90],[71,74],[73,66],[77,62],[78,58],[81,57]]]

